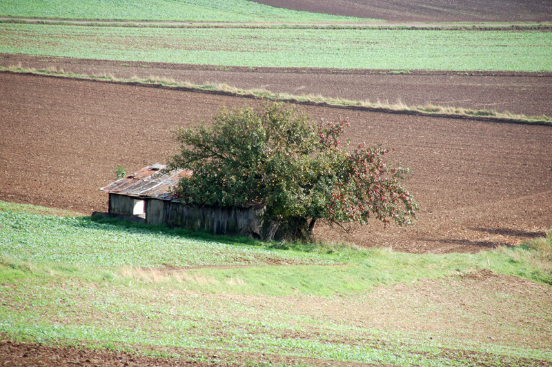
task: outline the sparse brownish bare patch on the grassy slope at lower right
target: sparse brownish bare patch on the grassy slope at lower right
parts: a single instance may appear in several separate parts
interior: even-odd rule
[[[548,350],[552,337],[551,288],[490,270],[380,286],[354,296],[214,297],[229,298],[245,309],[264,308],[265,312],[275,310],[274,313],[286,310],[285,313],[299,319],[324,319],[348,326],[351,330],[343,340],[347,344],[371,342],[362,328],[427,333],[444,344],[462,340],[474,345],[515,345],[537,350]],[[267,317],[278,318],[277,315]],[[361,331],[355,332],[355,328]],[[320,329],[313,326],[313,333],[301,337],[317,339],[321,329],[322,326]]]

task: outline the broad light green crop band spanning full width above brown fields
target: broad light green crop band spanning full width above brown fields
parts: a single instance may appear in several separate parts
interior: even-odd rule
[[[0,52],[219,66],[551,71],[552,32],[0,23]]]

